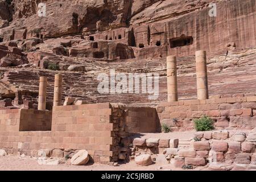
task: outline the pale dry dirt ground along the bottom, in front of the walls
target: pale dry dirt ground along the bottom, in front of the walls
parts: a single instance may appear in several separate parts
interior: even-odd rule
[[[162,169],[159,169],[162,167]],[[171,164],[151,166],[137,166],[134,162],[121,164],[120,166],[107,166],[102,164],[91,164],[87,166],[72,166],[68,164],[59,165],[39,165],[36,159],[29,156],[1,156],[0,171],[178,171],[180,169],[172,167]]]

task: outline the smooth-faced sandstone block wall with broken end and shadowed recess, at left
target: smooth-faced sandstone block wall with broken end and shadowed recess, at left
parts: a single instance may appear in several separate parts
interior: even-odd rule
[[[56,157],[85,149],[95,163],[111,163],[129,158],[129,133],[154,132],[155,118],[155,109],[109,103],[56,106],[53,111],[0,110],[0,148],[32,156],[49,149]]]

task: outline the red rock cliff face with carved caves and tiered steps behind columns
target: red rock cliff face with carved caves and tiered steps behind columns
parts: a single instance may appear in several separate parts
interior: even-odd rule
[[[40,2],[46,17],[38,16],[38,1],[0,1],[0,75],[18,90],[38,92],[38,77],[48,76],[51,102],[53,75],[61,72],[63,99],[154,105],[167,100],[166,56],[176,55],[179,99],[196,98],[194,55],[204,49],[210,96],[255,93],[254,0]],[[159,97],[98,93],[97,75],[112,68],[159,73]],[[225,118],[217,126],[226,127]]]

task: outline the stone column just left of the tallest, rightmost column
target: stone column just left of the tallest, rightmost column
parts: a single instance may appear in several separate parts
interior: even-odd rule
[[[167,56],[168,102],[177,101],[177,63],[175,56]]]

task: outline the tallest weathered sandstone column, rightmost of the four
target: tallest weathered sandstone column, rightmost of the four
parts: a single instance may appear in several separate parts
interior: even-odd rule
[[[196,51],[197,99],[209,98],[206,51]]]

